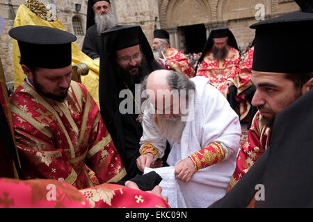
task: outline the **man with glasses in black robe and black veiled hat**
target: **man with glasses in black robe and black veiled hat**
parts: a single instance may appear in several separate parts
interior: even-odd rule
[[[163,69],[140,26],[115,26],[102,33],[99,101],[102,118],[127,170],[124,180],[142,172],[140,156],[141,87],[143,78]],[[128,105],[125,105],[127,101]]]

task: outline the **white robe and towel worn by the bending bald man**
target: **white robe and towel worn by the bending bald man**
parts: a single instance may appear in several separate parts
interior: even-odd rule
[[[228,182],[236,167],[241,137],[239,117],[232,110],[225,96],[209,85],[208,78],[197,76],[191,80],[195,83],[194,118],[186,122],[182,139],[175,141],[161,136],[154,114],[145,110],[141,146],[152,144],[159,151],[158,157],[163,157],[168,140],[170,153],[167,163],[175,166],[180,160],[188,158],[188,155],[213,142],[220,142],[225,150],[225,159],[218,164],[196,171],[190,182],[176,180],[174,172],[168,168],[153,169],[159,172],[161,177],[163,176],[160,183],[160,186],[163,186],[162,194],[168,196],[169,204],[173,208],[208,207],[225,195]],[[173,194],[173,190],[176,190],[176,194]]]

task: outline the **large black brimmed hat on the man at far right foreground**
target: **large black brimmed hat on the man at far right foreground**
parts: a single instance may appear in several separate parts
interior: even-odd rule
[[[291,12],[255,28],[252,70],[280,73],[313,71],[313,14]]]

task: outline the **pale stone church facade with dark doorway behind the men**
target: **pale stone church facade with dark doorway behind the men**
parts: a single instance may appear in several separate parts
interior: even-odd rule
[[[77,35],[81,49],[88,1],[40,1],[56,12],[67,31]],[[19,5],[25,2],[0,3],[0,16],[6,20],[0,33],[0,58],[7,82],[13,80],[12,39],[8,31],[13,27]],[[111,6],[118,24],[140,25],[151,44],[154,29],[163,28],[170,33],[171,46],[184,53],[202,51],[211,28],[217,26],[228,26],[244,51],[254,38],[251,24],[300,10],[293,0],[111,0]]]

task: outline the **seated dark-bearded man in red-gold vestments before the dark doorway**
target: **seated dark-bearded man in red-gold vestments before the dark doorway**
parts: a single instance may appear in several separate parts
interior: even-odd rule
[[[209,78],[211,85],[227,98],[231,107],[239,114],[240,120],[246,121],[250,103],[242,92],[252,83],[250,76],[243,79],[239,76],[240,62],[238,45],[232,31],[227,27],[213,28],[195,72],[196,76]]]

